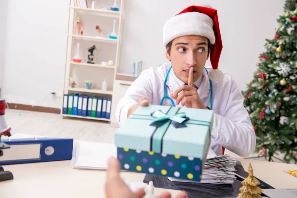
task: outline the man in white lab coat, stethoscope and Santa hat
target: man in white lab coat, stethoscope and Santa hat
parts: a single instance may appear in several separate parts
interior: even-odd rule
[[[139,105],[160,105],[168,93],[162,105],[214,111],[211,151],[219,155],[224,147],[250,155],[256,138],[241,91],[230,74],[218,70],[222,41],[217,11],[190,6],[170,18],[163,27],[163,45],[170,63],[150,67],[132,83],[116,108],[119,124]],[[212,68],[205,69],[208,57]]]

